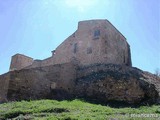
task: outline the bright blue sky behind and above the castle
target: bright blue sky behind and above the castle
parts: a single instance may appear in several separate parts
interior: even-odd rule
[[[159,0],[0,0],[0,74],[11,56],[51,56],[78,21],[108,19],[131,47],[132,64],[154,73],[160,69]]]

